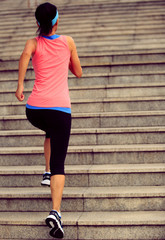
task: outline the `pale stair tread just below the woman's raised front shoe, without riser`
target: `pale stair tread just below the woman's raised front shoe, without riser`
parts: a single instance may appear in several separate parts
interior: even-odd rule
[[[65,187],[63,198],[165,197],[165,186]],[[0,198],[48,198],[48,187],[0,188]]]

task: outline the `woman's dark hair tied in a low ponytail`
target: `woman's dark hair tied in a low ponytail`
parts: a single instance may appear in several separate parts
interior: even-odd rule
[[[39,5],[35,12],[35,17],[39,23],[37,32],[39,36],[48,35],[52,31],[52,19],[57,14],[57,8],[51,3],[43,3]]]

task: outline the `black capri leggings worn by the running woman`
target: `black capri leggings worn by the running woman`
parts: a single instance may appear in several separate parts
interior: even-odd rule
[[[26,116],[30,123],[45,131],[50,137],[51,175],[65,175],[64,162],[69,144],[71,130],[71,114],[50,109],[26,108]]]

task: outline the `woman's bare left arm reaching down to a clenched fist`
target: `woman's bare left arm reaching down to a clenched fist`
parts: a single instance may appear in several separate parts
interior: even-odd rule
[[[32,54],[35,53],[36,47],[37,40],[35,38],[28,40],[19,60],[18,86],[15,93],[15,96],[19,101],[23,101],[25,98],[23,94],[24,78],[30,61],[30,57]]]

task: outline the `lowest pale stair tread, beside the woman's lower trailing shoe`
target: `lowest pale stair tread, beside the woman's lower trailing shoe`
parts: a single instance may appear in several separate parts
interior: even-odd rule
[[[43,225],[46,212],[1,212],[1,225]],[[64,225],[164,225],[163,211],[63,212]]]

